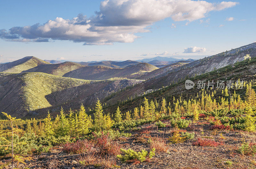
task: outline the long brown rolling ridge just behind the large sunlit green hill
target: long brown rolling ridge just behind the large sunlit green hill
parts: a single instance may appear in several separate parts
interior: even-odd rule
[[[40,64],[31,69],[22,71],[22,73],[42,72],[84,80],[106,80],[110,78],[135,79],[142,74],[146,74],[156,69],[157,67],[148,63],[130,65],[125,68],[112,68],[105,66],[83,66],[74,62],[64,62],[59,64]]]

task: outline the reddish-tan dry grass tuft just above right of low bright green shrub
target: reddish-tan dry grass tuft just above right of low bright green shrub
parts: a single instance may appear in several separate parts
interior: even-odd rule
[[[153,137],[150,142],[150,148],[155,148],[156,152],[168,152],[169,146],[166,144],[166,140],[161,137]]]

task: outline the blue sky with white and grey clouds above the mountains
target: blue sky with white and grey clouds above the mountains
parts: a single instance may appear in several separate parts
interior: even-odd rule
[[[0,63],[200,59],[256,42],[255,0],[0,1]]]

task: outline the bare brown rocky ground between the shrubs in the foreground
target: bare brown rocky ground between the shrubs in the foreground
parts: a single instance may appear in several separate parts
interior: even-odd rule
[[[168,124],[168,121],[165,123]],[[162,137],[168,141],[175,129],[167,125],[158,129],[155,124],[146,124],[140,127],[140,130],[132,131],[131,137],[121,137],[117,141],[124,148],[131,148],[135,151],[141,149],[150,150],[148,138]],[[121,163],[116,160],[115,168],[180,168],[180,169],[201,169],[201,168],[256,168],[256,158],[253,156],[241,155],[236,150],[245,141],[255,143],[255,134],[244,131],[229,130],[211,130],[211,125],[206,121],[198,121],[188,126],[185,130],[194,132],[195,138],[185,140],[179,144],[169,144],[169,152],[156,152],[156,155],[146,162],[139,164]],[[184,131],[184,130],[183,130]],[[222,135],[221,135],[222,134]],[[222,137],[223,136],[223,137]],[[217,147],[193,146],[197,138],[212,138],[215,141],[223,142],[223,145]],[[54,147],[49,153],[32,156],[32,160],[26,161],[26,164],[19,164],[18,168],[97,168],[94,166],[83,166],[78,163],[79,154],[66,154],[61,150],[62,147]],[[7,160],[0,161],[0,165]],[[227,164],[227,161],[232,164]],[[5,167],[11,168],[10,165]],[[100,167],[98,167],[100,168]]]

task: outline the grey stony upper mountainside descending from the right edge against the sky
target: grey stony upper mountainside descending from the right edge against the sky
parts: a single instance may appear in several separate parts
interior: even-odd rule
[[[256,43],[232,49],[226,53],[219,53],[208,58],[196,60],[194,62],[172,69],[169,72],[165,72],[141,84],[138,84],[130,90],[119,93],[115,96],[115,99],[111,100],[110,102],[115,103],[118,100],[122,101],[127,97],[140,95],[144,92],[147,93],[162,88],[163,86],[169,86],[170,84],[179,82],[182,79],[194,77],[195,75],[205,74],[207,72],[214,71],[218,68],[222,68],[228,65],[232,67],[232,65],[236,64],[236,62],[243,61],[246,54],[250,54],[252,58],[256,57]],[[246,71],[245,68],[244,70]],[[255,74],[255,70],[252,71],[252,73]]]

